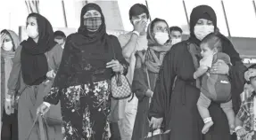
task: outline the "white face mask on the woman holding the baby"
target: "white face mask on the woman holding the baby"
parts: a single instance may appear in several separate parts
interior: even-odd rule
[[[203,25],[194,27],[194,35],[197,39],[202,41],[202,39],[211,33],[214,32],[214,26]]]

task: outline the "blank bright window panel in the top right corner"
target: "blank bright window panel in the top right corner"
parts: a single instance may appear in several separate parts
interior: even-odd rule
[[[224,0],[232,36],[256,37],[256,17],[252,0]]]

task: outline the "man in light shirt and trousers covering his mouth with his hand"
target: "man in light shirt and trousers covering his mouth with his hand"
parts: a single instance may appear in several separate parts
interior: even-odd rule
[[[129,10],[129,19],[134,29],[127,34],[120,35],[119,41],[122,54],[129,63],[127,74],[128,82],[132,84],[136,65],[135,52],[147,49],[146,27],[149,19],[147,7],[144,4],[134,4]],[[118,105],[116,111],[113,112],[113,115],[118,115],[115,117],[118,118],[118,120],[113,121],[112,125],[115,125],[115,122],[118,121],[122,140],[131,139],[136,118],[137,97],[134,97],[128,102],[129,99],[130,98],[119,101],[111,100],[111,108]]]

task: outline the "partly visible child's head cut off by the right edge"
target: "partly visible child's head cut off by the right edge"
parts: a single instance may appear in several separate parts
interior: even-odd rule
[[[244,78],[256,90],[256,64],[248,67],[248,70],[244,73]]]

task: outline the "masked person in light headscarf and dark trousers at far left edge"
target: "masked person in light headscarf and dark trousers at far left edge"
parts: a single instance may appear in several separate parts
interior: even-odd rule
[[[15,51],[20,45],[19,36],[12,30],[4,29],[1,31],[0,46],[1,46],[1,139],[2,140],[18,140],[18,114],[17,110],[4,109],[4,104],[11,102],[8,100],[7,83],[12,71],[12,59]],[[3,116],[3,117],[2,117]]]

